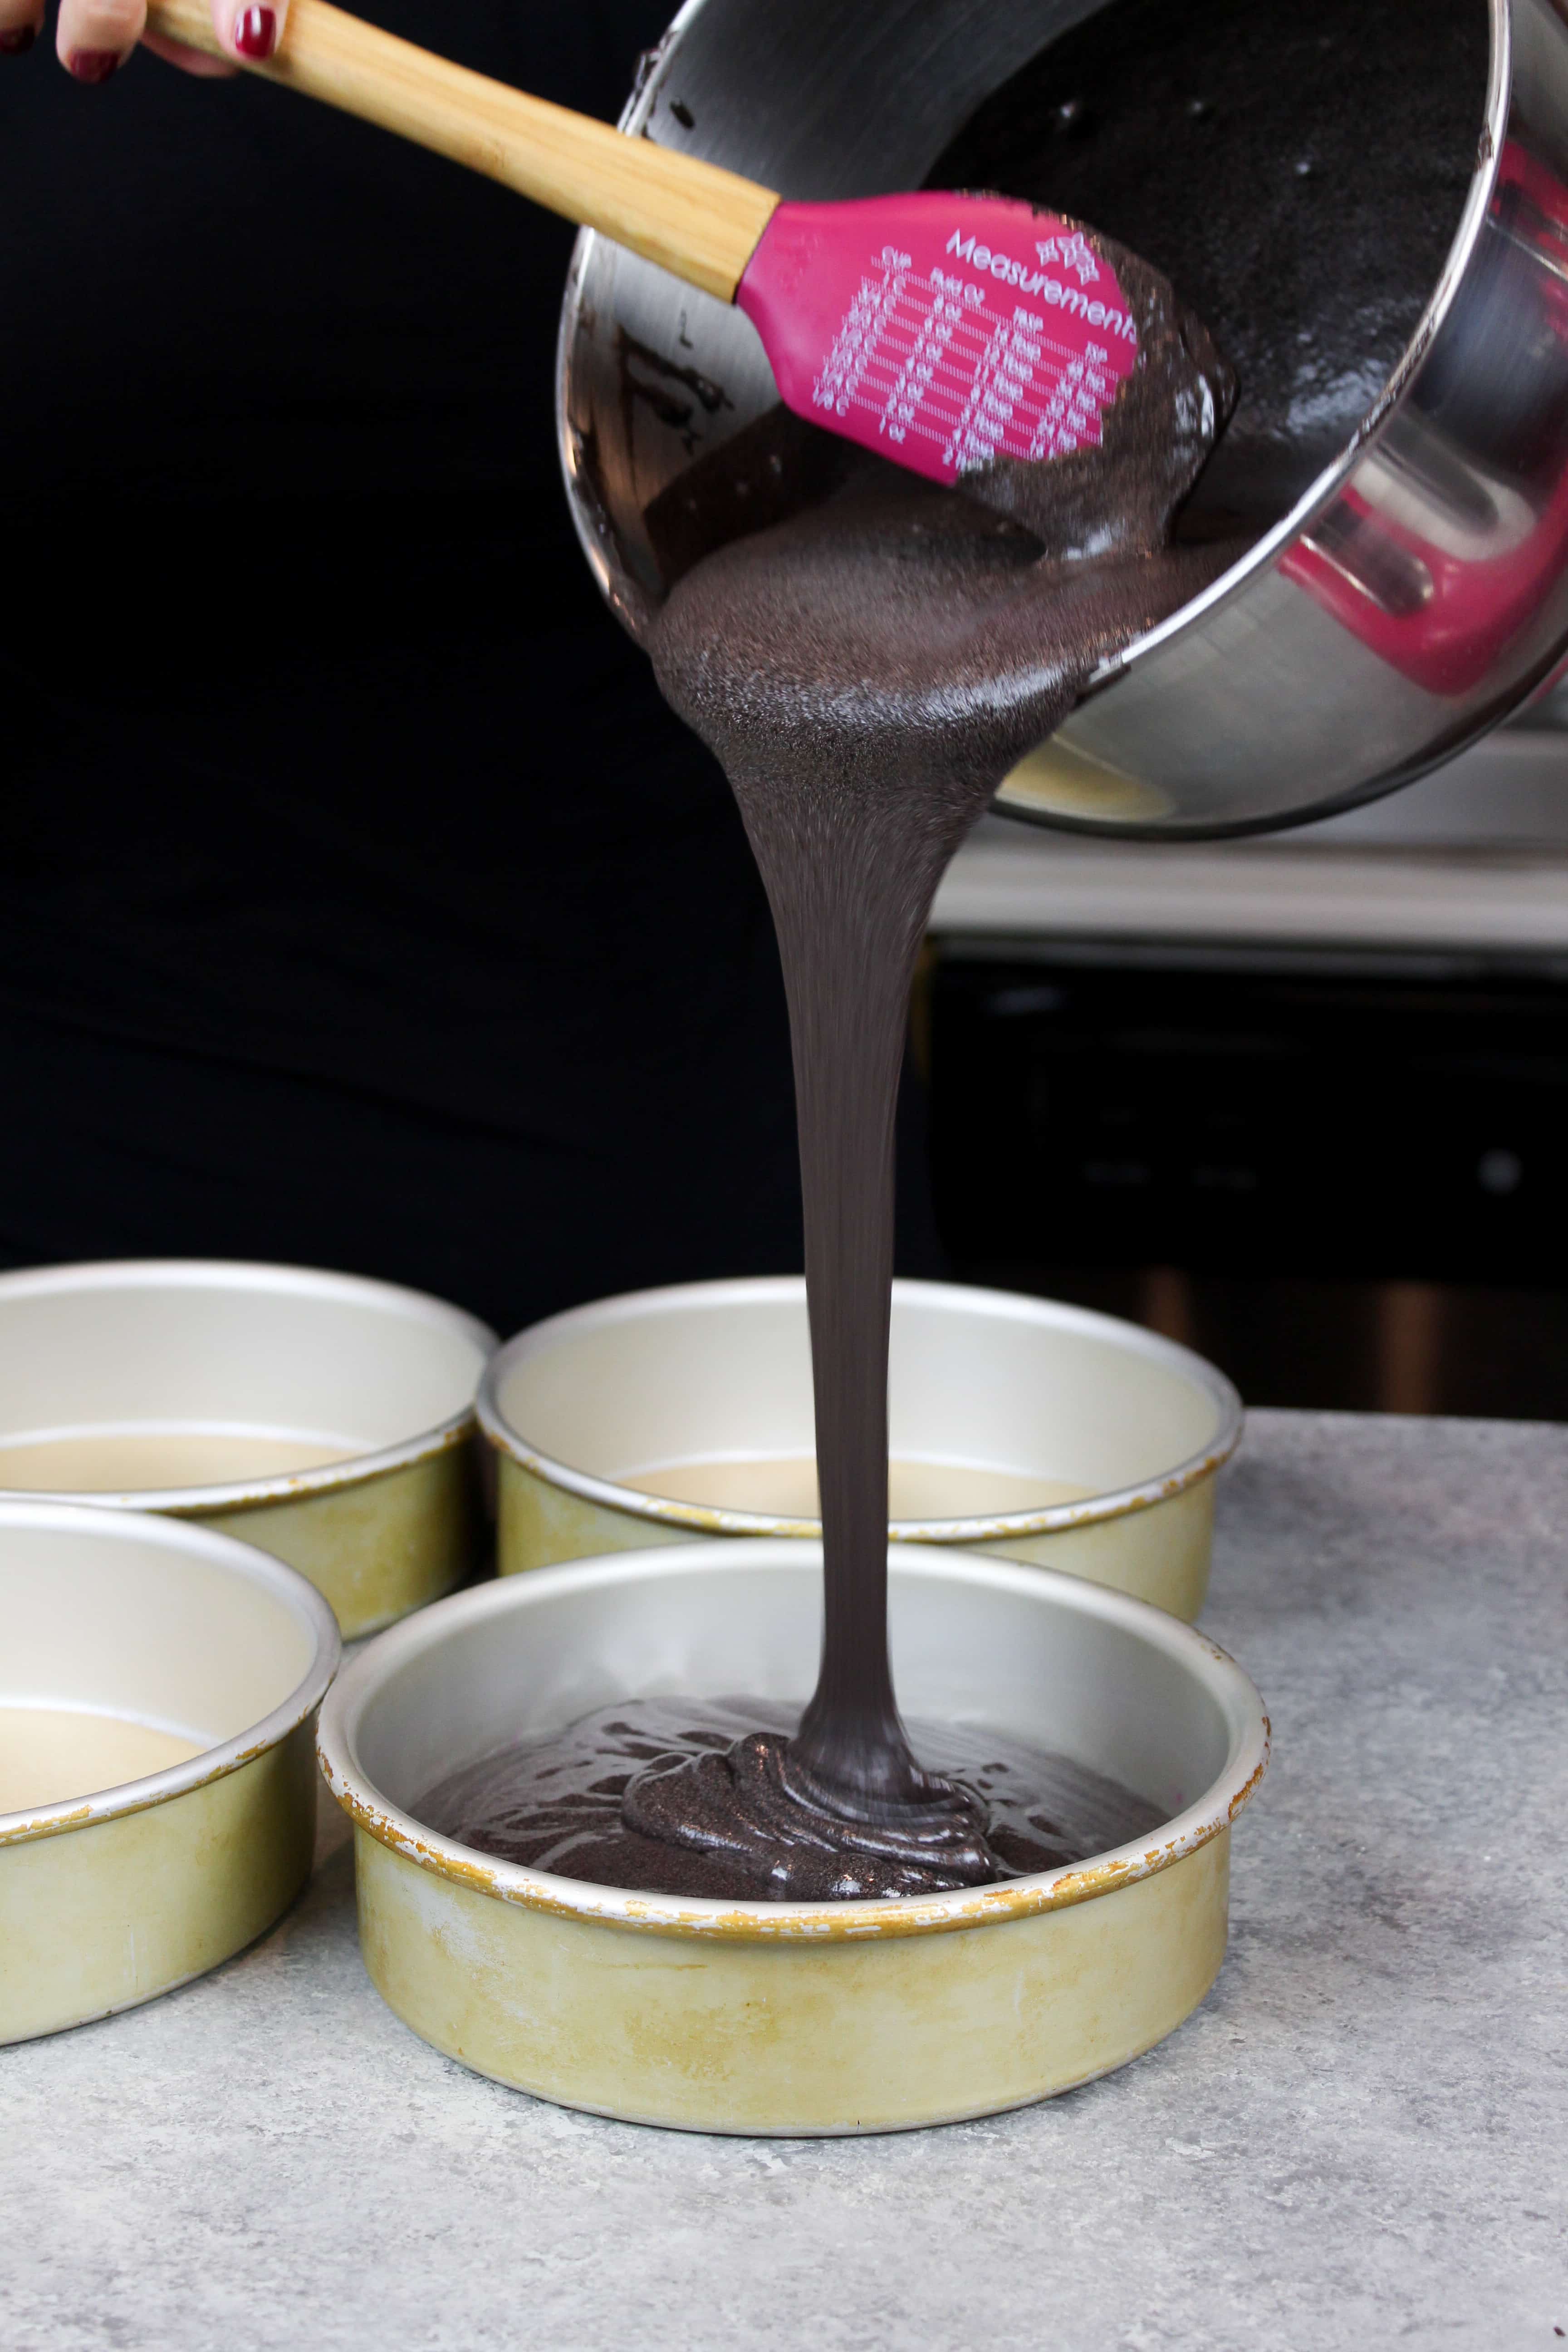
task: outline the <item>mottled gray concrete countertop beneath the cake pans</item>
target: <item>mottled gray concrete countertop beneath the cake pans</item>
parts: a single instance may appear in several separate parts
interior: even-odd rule
[[[414,2039],[331,1851],[252,1952],[0,2051],[5,2352],[1549,2352],[1568,2331],[1568,1430],[1258,1414],[1208,1630],[1274,1769],[1121,2074],[719,2140]]]

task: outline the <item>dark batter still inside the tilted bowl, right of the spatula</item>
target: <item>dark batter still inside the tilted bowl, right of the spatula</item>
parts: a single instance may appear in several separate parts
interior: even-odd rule
[[[985,101],[926,176],[1095,221],[1241,379],[1185,517],[1274,522],[1399,365],[1460,226],[1486,0],[1112,0]]]

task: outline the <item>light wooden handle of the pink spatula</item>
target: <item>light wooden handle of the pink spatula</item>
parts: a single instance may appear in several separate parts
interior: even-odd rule
[[[148,26],[219,54],[207,0],[150,0]],[[529,99],[329,0],[292,0],[277,54],[249,71],[451,155],[569,221],[602,228],[719,301],[733,301],[778,205],[771,188],[736,172]]]

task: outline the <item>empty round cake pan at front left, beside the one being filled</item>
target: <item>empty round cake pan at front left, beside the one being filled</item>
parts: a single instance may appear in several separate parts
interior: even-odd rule
[[[0,1625],[0,2042],[26,2042],[216,1969],[287,1910],[339,1630],[247,1543],[16,1501]]]

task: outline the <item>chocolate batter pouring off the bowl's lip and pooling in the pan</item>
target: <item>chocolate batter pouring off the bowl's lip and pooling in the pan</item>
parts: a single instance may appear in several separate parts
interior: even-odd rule
[[[1060,223],[1058,223],[1060,226]],[[1204,327],[1164,278],[1105,240],[1138,367],[1098,437],[1041,468],[992,470],[961,496],[835,449],[825,496],[722,539],[738,470],[788,480],[788,416],[677,485],[691,567],[654,623],[668,701],[733,786],[773,908],[790,1002],[806,1296],[823,1496],[823,1665],[799,1726],[733,1700],[752,1729],[717,1748],[642,1705],[487,1759],[425,1802],[484,1851],[541,1858],[522,1788],[618,1799],[581,1818],[574,1877],[712,1896],[820,1900],[985,1884],[1048,1867],[1065,1828],[1009,1858],[973,1778],[926,1769],[905,1733],[886,1644],[886,1357],[893,1117],[914,957],[936,887],[1001,776],[1070,710],[1110,654],[1185,604],[1225,555],[1166,546],[1232,400]],[[1079,280],[1081,282],[1081,280]],[[804,428],[809,430],[809,428]],[[842,445],[839,445],[842,447]],[[820,485],[818,485],[820,487]],[[654,1705],[654,1703],[644,1703]],[[703,1715],[701,1708],[686,1712]],[[679,1736],[677,1736],[679,1733]],[[630,1743],[630,1748],[628,1748]],[[646,1757],[625,1773],[628,1755]],[[1060,1759],[1039,1759],[1039,1785]],[[543,1771],[543,1783],[541,1783]],[[1147,1809],[1119,1792],[1126,1835]],[[1114,1811],[1114,1809],[1112,1809]],[[592,1806],[590,1806],[592,1816]],[[550,1823],[555,1828],[555,1820]],[[1088,1832],[1103,1844],[1103,1823]],[[555,1853],[559,1837],[545,1837]],[[1095,1851],[1095,1844],[1081,1846]]]

